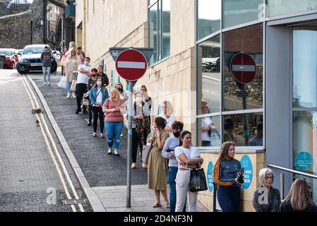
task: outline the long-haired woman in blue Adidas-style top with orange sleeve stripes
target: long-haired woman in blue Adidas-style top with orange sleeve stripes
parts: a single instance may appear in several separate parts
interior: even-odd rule
[[[241,164],[234,159],[234,148],[233,142],[222,144],[213,172],[218,186],[217,198],[223,212],[239,211],[240,189],[244,183]]]

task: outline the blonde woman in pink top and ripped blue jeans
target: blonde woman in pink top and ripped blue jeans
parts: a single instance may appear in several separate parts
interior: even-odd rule
[[[120,134],[124,126],[124,117],[126,105],[124,100],[121,100],[119,90],[112,89],[110,97],[104,102],[102,112],[106,113],[104,121],[106,123],[108,155],[112,154],[119,156],[118,149],[120,144]]]

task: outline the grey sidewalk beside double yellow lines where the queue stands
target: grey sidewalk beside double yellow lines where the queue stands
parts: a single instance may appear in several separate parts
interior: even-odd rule
[[[92,209],[98,212],[169,212],[164,205],[162,208],[152,208],[155,194],[147,188],[147,170],[141,167],[139,155],[137,169],[132,170],[131,208],[126,208],[126,128],[124,137],[120,138],[120,157],[107,155],[105,139],[92,137],[93,129],[87,126],[88,115],[75,114],[76,100],[66,99],[66,90],[57,86],[61,78],[59,71],[52,75],[50,86],[43,85],[41,73],[29,76],[39,89],[44,106],[47,104],[49,108],[45,110],[52,112],[54,119],[50,119],[51,122],[56,121],[57,130],[60,129],[61,136],[64,136],[62,139],[67,141],[65,146],[71,150],[68,159],[71,165],[76,165],[74,171],[79,180],[84,181],[83,189]],[[161,203],[165,203],[162,198]],[[209,210],[198,203],[198,211]]]

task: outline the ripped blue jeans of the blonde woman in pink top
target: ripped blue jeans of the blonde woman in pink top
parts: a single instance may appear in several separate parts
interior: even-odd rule
[[[108,148],[119,149],[120,134],[124,127],[123,121],[107,121],[106,134]]]

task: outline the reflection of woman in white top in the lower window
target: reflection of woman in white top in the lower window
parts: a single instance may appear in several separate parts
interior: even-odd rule
[[[208,102],[201,102],[201,113],[202,114],[208,114],[209,105]],[[213,121],[210,117],[204,117],[201,119],[201,145],[203,147],[209,147],[210,146],[210,133],[215,129],[215,126],[213,126]]]

